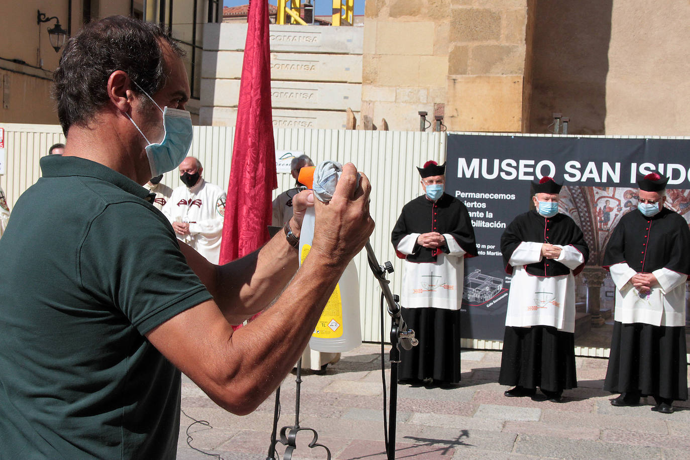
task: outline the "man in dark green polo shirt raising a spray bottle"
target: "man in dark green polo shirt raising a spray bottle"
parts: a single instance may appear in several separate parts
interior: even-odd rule
[[[0,457],[175,457],[180,370],[251,412],[371,234],[371,186],[350,164],[328,205],[295,197],[286,230],[299,235],[307,206],[319,228],[297,274],[287,231],[226,266],[179,242],[141,186],[184,159],[189,92],[179,48],[152,24],[102,19],[63,51],[65,152],[41,159],[0,240]]]

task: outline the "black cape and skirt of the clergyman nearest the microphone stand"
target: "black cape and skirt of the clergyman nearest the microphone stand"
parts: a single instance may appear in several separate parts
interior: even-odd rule
[[[404,237],[413,233],[439,232],[451,234],[466,252],[465,257],[477,255],[472,221],[464,204],[449,194],[433,202],[425,195],[407,203],[391,234],[397,256],[411,263],[435,263],[449,248],[424,248],[415,243],[412,254],[397,251]],[[458,303],[462,299],[457,299]],[[419,345],[412,350],[400,350],[398,378],[401,381],[434,379],[440,383],[460,381],[460,309],[406,308],[402,303],[402,317],[417,334]]]

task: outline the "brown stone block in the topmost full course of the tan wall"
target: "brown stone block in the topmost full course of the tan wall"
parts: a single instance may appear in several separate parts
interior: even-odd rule
[[[451,10],[451,41],[483,42],[500,38],[500,12],[478,8]]]

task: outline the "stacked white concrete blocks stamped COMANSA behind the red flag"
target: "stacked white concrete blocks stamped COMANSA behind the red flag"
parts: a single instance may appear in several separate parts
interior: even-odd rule
[[[346,127],[362,101],[362,27],[270,25],[275,128]],[[235,126],[246,23],[208,24],[199,123]]]

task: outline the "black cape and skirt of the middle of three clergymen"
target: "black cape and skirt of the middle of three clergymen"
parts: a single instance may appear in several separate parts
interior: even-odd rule
[[[589,259],[589,248],[582,230],[565,214],[544,218],[531,210],[515,217],[501,236],[501,252],[507,273],[513,272],[509,261],[523,241],[573,246],[584,257],[584,262],[573,270],[575,275],[582,271]],[[537,263],[526,265],[525,271],[535,277],[555,277],[571,272],[562,263],[543,257]],[[540,387],[553,392],[577,387],[575,334],[553,326],[506,326],[498,382],[524,388]]]

